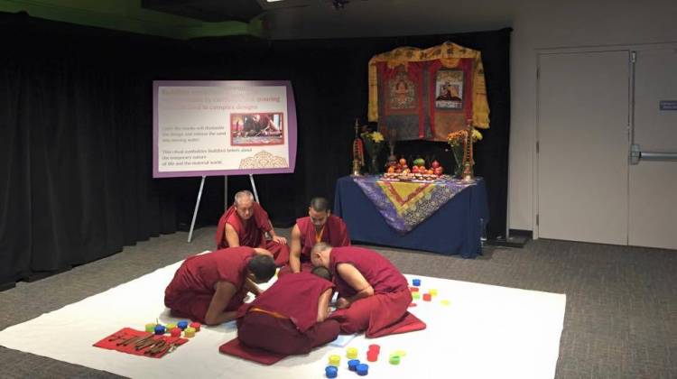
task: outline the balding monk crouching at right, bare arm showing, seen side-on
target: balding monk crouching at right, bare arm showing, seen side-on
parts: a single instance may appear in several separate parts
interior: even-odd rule
[[[364,247],[312,248],[312,263],[329,269],[338,291],[336,319],[346,334],[366,330],[366,337],[381,337],[425,328],[407,311],[412,294],[404,275],[381,254]]]

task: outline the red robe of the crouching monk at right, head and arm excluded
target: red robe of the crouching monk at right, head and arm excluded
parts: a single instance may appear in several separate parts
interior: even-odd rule
[[[334,274],[338,296],[348,298],[357,293],[337,273],[338,263],[350,263],[362,273],[374,289],[374,295],[357,300],[350,307],[331,314],[341,324],[341,332],[352,334],[366,330],[366,337],[425,328],[425,324],[407,311],[412,294],[403,274],[384,256],[363,247],[335,247],[329,256],[329,270]]]

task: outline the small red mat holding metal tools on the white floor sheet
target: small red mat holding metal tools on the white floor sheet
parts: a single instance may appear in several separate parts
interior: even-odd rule
[[[152,337],[146,339],[144,342],[141,342],[142,339],[149,336]],[[151,341],[151,338],[157,343],[156,345],[147,344],[153,342]],[[110,336],[101,339],[93,346],[106,348],[108,350],[116,350],[122,353],[133,354],[134,356],[162,358],[162,356],[169,354],[170,350],[180,347],[186,342],[188,342],[188,339],[186,338],[154,336],[153,333],[135,330],[133,328],[121,328]],[[157,348],[153,350],[154,347]]]

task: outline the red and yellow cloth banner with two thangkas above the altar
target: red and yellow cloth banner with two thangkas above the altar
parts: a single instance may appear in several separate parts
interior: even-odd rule
[[[430,49],[397,48],[369,60],[369,121],[398,140],[447,141],[447,134],[489,127],[479,51],[444,42]]]

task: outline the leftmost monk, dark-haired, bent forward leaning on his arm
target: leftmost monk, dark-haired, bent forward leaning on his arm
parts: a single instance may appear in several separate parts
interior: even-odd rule
[[[188,257],[164,290],[172,315],[218,325],[235,319],[246,293],[275,274],[273,254],[247,246]]]

